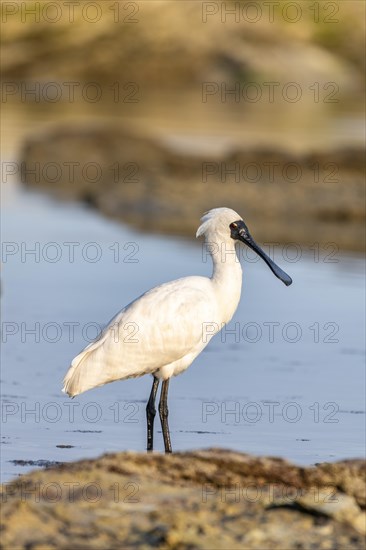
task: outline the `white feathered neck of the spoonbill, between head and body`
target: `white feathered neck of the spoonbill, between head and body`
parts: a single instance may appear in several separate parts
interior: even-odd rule
[[[211,281],[222,312],[222,322],[228,323],[238,307],[243,272],[234,240],[220,242],[217,239],[209,246],[213,262]]]

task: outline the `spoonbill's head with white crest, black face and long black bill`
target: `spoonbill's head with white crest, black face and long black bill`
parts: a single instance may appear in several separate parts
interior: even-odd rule
[[[201,225],[197,229],[196,237],[205,236],[206,241],[233,239],[240,241],[256,252],[268,265],[272,273],[286,286],[292,279],[285,273],[255,242],[244,220],[231,208],[214,208],[206,212],[201,218]]]

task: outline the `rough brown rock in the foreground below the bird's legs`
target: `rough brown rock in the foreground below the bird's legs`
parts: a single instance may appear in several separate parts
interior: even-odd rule
[[[364,548],[365,463],[118,453],[3,487],[2,548]]]

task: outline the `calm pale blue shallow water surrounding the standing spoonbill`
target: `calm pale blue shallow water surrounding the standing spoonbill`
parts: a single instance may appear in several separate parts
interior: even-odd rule
[[[209,274],[201,244],[138,233],[15,184],[3,189],[3,211],[2,481],[48,462],[143,451],[150,377],[74,400],[62,379],[131,299]],[[226,332],[172,380],[174,449],[220,446],[301,464],[362,456],[364,259],[321,251],[317,261],[304,251],[289,261],[278,248],[275,260],[294,279],[286,288],[252,258]],[[158,419],[156,429],[161,451]]]

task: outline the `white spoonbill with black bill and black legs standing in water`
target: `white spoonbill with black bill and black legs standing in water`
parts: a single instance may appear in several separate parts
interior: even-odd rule
[[[291,277],[255,243],[234,210],[214,208],[201,222],[196,237],[205,237],[213,261],[211,278],[177,279],[131,302],[113,317],[95,342],[75,357],[64,379],[63,391],[74,397],[115,380],[152,374],[154,380],[146,406],[148,451],[153,449],[155,398],[160,381],[159,415],[165,452],[171,453],[169,380],[191,365],[236,311],[242,284],[236,244],[245,243],[286,286],[292,283]]]

